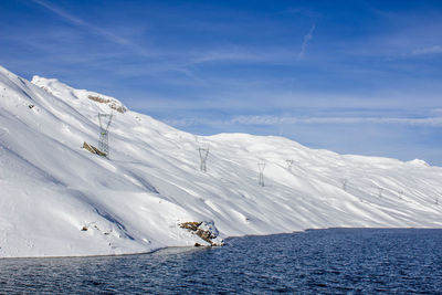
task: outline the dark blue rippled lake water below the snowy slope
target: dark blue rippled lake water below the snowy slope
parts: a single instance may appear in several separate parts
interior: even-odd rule
[[[442,230],[333,229],[152,254],[0,260],[0,293],[442,294]]]

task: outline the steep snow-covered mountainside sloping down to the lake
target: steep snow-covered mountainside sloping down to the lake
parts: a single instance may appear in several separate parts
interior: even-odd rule
[[[341,156],[282,137],[196,137],[113,97],[0,67],[0,256],[148,252],[330,226],[442,226],[442,168]],[[97,114],[114,117],[109,157]],[[198,148],[208,148],[207,172]],[[293,160],[288,168],[287,160]],[[265,164],[264,187],[257,164]]]

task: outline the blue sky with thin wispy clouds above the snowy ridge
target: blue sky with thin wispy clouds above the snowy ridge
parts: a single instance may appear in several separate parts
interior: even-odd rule
[[[0,1],[0,64],[180,129],[442,166],[442,1]]]

